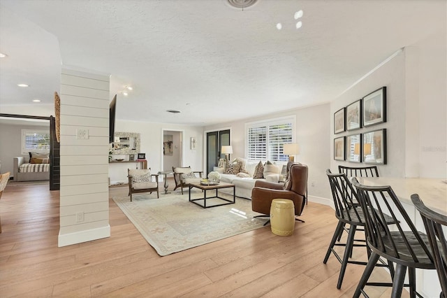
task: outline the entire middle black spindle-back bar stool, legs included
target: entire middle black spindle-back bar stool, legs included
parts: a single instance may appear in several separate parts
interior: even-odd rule
[[[416,292],[416,268],[435,269],[427,235],[418,232],[414,227],[409,215],[389,185],[361,185],[356,178],[353,178],[353,185],[356,187],[358,200],[365,215],[367,245],[372,250],[353,297],[360,297],[361,293],[365,294],[363,288],[379,257],[395,264],[391,297],[401,297],[403,287],[410,288],[411,298],[416,295],[421,297]],[[374,208],[376,211],[371,212]],[[385,213],[395,220],[395,229],[389,229],[384,220]],[[404,230],[404,227],[408,227],[408,229]],[[408,284],[404,284],[406,269],[409,272]]]

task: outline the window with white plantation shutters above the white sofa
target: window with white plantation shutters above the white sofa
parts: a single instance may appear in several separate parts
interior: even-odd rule
[[[247,127],[247,158],[251,160],[288,160],[284,144],[293,143],[295,118],[256,122]]]

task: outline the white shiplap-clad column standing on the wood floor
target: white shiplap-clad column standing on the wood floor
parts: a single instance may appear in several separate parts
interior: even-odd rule
[[[108,76],[62,69],[58,246],[110,236]]]

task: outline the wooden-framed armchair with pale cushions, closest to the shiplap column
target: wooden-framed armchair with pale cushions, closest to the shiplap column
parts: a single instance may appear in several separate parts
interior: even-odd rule
[[[129,178],[129,196],[140,192],[156,192],[159,198],[159,176],[151,175],[151,169],[127,169],[127,177]],[[155,181],[154,181],[155,180]]]

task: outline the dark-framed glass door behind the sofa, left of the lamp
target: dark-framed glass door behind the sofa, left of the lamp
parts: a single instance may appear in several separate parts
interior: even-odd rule
[[[207,176],[219,164],[222,146],[230,145],[230,129],[207,132]]]

